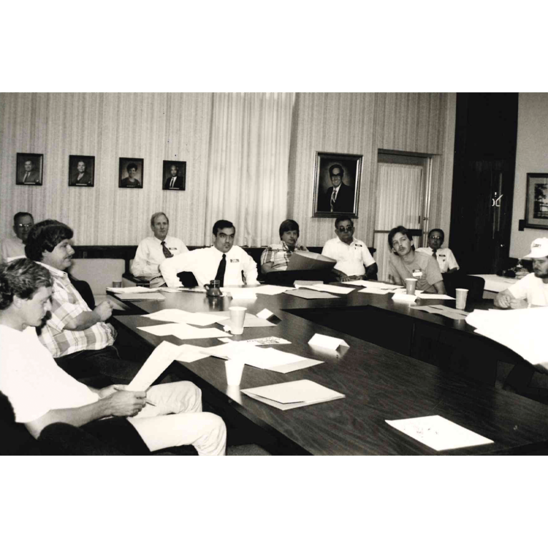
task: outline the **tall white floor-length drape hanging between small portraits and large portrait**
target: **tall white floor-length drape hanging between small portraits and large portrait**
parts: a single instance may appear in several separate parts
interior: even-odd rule
[[[233,222],[239,245],[279,240],[294,100],[294,93],[213,94],[206,242],[218,219]]]

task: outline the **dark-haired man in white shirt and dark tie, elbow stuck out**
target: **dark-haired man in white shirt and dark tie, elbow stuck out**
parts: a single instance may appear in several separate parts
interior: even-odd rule
[[[213,225],[213,246],[166,259],[160,271],[168,287],[181,287],[178,272],[192,272],[200,286],[218,279],[220,286],[257,283],[257,265],[241,247],[234,245],[236,229],[221,219]]]

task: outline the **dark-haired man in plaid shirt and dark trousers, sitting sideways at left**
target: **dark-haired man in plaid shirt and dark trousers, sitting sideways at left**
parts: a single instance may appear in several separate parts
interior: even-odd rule
[[[56,363],[75,378],[101,373],[111,378],[133,379],[140,365],[119,358],[114,346],[116,330],[105,323],[112,314],[110,301],[93,310],[68,279],[72,264],[73,232],[62,222],[47,219],[32,227],[25,253],[44,266],[53,279],[52,310],[39,340]]]

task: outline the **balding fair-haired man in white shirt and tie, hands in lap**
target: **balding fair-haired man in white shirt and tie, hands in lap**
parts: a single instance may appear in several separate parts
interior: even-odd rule
[[[160,273],[161,263],[180,253],[187,253],[188,248],[179,238],[168,236],[169,219],[165,213],[153,214],[150,218],[150,227],[154,236],[139,243],[131,270],[134,276],[149,279],[150,287],[160,287],[164,285]]]

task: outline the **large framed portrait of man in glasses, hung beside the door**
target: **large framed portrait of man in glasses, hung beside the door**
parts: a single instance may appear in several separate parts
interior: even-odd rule
[[[316,152],[313,217],[358,216],[362,155]]]

